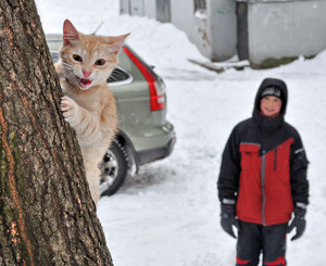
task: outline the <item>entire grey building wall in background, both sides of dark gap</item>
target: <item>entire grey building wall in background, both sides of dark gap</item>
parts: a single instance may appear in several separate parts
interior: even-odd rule
[[[195,1],[121,0],[121,9],[162,20],[158,7],[168,2],[168,21],[211,61],[238,52],[260,66],[269,58],[313,55],[326,49],[326,0],[205,0],[203,12],[195,10]],[[240,5],[246,12],[237,17]]]

